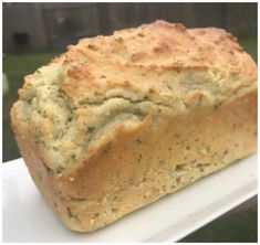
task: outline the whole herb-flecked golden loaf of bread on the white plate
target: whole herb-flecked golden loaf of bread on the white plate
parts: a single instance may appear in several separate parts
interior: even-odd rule
[[[221,29],[155,21],[83,39],[25,76],[19,95],[21,155],[74,231],[103,227],[257,148],[257,65]]]

